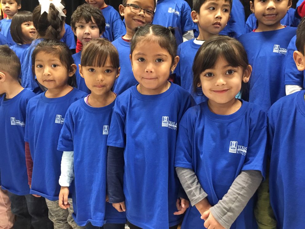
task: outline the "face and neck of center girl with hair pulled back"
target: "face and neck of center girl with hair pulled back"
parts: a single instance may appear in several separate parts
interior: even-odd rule
[[[140,83],[142,94],[160,94],[168,89],[168,77],[179,61],[156,41],[144,39],[137,43],[130,56],[133,74]]]

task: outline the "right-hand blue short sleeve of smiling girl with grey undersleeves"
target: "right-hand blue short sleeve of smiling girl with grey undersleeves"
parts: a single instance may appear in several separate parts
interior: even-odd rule
[[[251,123],[252,122],[252,123]],[[266,175],[267,115],[259,111],[256,118],[250,117],[250,135],[247,154],[242,170],[258,170]]]

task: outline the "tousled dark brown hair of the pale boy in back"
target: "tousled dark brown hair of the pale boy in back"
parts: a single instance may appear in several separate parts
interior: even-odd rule
[[[92,22],[92,18],[94,19],[94,23],[97,24],[98,29],[100,30],[100,34],[105,32],[106,21],[102,14],[102,11],[96,7],[91,6],[90,4],[83,4],[76,8],[71,16],[71,26],[74,30],[76,30],[75,24],[82,19],[85,20],[86,23]]]

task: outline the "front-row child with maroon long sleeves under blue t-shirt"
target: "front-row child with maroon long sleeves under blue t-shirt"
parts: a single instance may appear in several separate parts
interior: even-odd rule
[[[32,54],[33,70],[46,92],[31,98],[26,107],[26,166],[30,194],[46,198],[55,229],[82,228],[72,218],[73,207],[58,206],[61,151],[57,143],[71,103],[85,97],[75,85],[76,66],[69,48],[60,41],[40,42]]]

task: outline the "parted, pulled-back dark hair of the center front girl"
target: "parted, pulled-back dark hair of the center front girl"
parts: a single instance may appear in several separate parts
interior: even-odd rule
[[[177,55],[177,43],[173,28],[164,26],[146,24],[142,27],[137,27],[133,30],[134,35],[131,40],[130,54],[136,48],[137,43],[144,39],[157,42],[161,48],[164,48],[172,56],[172,63]]]

